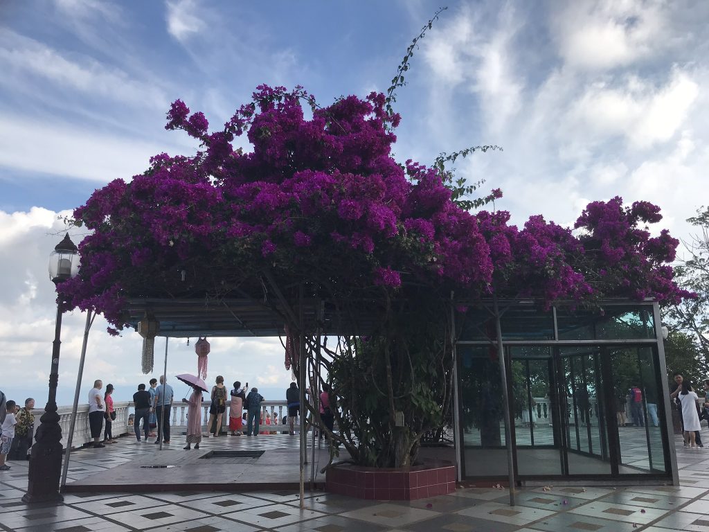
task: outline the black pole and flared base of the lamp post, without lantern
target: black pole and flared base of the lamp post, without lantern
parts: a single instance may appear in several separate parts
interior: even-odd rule
[[[57,414],[57,384],[59,383],[59,352],[62,345],[62,314],[64,305],[57,299],[57,321],[52,344],[52,370],[49,375],[49,399],[32,445],[27,493],[22,497],[28,504],[62,501],[59,482],[62,476],[62,427]]]

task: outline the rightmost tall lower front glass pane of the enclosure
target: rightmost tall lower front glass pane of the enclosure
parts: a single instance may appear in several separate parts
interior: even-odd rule
[[[661,396],[652,348],[609,350],[617,409],[625,399],[625,426],[618,426],[620,474],[665,472],[660,426]],[[622,416],[618,416],[622,417]],[[657,426],[655,421],[657,421]]]

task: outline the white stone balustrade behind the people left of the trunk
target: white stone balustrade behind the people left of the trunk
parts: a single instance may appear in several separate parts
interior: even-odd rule
[[[204,401],[202,404],[202,431],[203,433],[208,433],[207,423],[209,422],[209,406],[211,401]],[[269,430],[272,432],[284,430],[284,426],[281,423],[283,416],[288,413],[286,408],[286,401],[263,401],[261,403],[262,414],[264,419],[266,413],[268,412],[273,419],[273,414],[278,415],[279,428],[272,426]],[[133,423],[131,419],[131,414],[134,413],[133,401],[116,401],[113,403],[113,409],[116,411],[116,420],[113,421],[113,426],[111,427],[111,432],[113,437],[123,436],[125,434],[133,434]],[[40,416],[44,413],[43,409],[34,409],[33,414],[35,415],[35,428],[34,432],[37,432],[40,426]],[[62,427],[62,445],[67,446],[67,436],[69,435],[69,426],[71,424],[72,418],[72,407],[71,406],[60,406],[57,409],[57,414],[59,414],[59,424]],[[227,409],[225,414],[222,416],[222,425],[228,427],[229,425],[229,405],[227,404]],[[170,413],[170,426],[174,428],[186,428],[187,426],[187,404],[182,401],[175,401],[172,404],[172,412]],[[259,427],[259,430],[261,427]],[[223,431],[226,429],[223,429]],[[285,429],[287,430],[287,429]],[[104,439],[104,435],[101,434],[101,439]],[[89,431],[89,405],[82,404],[79,405],[77,409],[77,421],[74,425],[74,438],[72,438],[72,448],[79,448],[92,440],[91,432]]]

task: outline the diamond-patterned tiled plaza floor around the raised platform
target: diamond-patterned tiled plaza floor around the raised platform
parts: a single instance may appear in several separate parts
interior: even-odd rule
[[[106,449],[77,451],[72,455],[69,478],[76,481],[107,475],[114,467],[126,469],[127,464],[154,453],[147,445],[122,438]],[[177,445],[184,443],[173,438],[172,446]],[[217,445],[236,444],[223,438],[205,446]],[[274,450],[283,443],[262,438],[251,445]],[[176,452],[164,451],[164,460],[174,460]],[[21,501],[27,487],[26,462],[11,462],[11,471],[0,473],[0,531],[709,532],[709,450],[685,450],[680,445],[677,454],[681,486],[522,489],[513,507],[508,505],[505,489],[483,488],[458,489],[454,494],[411,502],[362,501],[306,492],[303,509],[295,490],[88,492],[67,494],[58,505],[28,506]],[[269,476],[284,471],[278,461],[262,464],[262,468],[263,475]],[[145,470],[139,480],[155,482],[153,472]]]

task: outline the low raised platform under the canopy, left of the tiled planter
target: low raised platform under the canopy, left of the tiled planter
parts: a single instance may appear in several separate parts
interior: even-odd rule
[[[74,451],[64,492],[221,492],[298,489],[298,437],[288,435],[205,438],[199,450],[183,450],[184,436],[169,444],[138,443],[128,436],[102,449]],[[229,453],[225,455],[223,453]],[[259,455],[259,453],[261,453]],[[312,448],[305,467],[310,487]],[[325,485],[319,470],[329,460],[325,445],[315,449],[315,487]],[[88,473],[88,474],[86,474]]]

